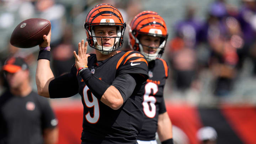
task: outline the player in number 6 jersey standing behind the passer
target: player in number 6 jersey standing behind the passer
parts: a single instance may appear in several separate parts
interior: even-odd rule
[[[163,97],[169,68],[160,59],[168,37],[164,19],[154,11],[143,11],[130,23],[130,46],[145,55],[149,67],[149,79],[143,94],[145,120],[138,136],[139,144],[156,144],[158,132],[162,144],[172,144],[172,127]]]

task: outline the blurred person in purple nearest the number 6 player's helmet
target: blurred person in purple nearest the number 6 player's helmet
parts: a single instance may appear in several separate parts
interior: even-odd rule
[[[169,44],[168,59],[171,64],[172,83],[182,92],[192,88],[197,75],[196,48],[203,23],[195,14],[194,4],[187,4],[185,18],[176,22],[175,35]]]

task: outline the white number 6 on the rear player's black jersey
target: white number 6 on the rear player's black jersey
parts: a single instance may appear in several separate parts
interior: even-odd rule
[[[151,89],[153,90],[153,95],[158,92],[158,86],[153,82],[148,82],[145,85],[145,94],[143,96],[143,111],[145,115],[149,118],[154,118],[156,113],[156,99],[154,96],[149,96],[151,94]],[[151,110],[149,109],[149,105],[151,106]]]

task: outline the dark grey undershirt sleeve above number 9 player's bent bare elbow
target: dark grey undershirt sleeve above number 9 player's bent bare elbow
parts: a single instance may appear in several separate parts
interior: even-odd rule
[[[136,81],[130,74],[123,73],[114,79],[112,85],[118,89],[123,101],[126,102],[134,91]]]

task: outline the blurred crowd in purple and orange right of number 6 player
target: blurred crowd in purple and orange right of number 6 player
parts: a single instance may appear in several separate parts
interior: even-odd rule
[[[204,105],[254,103],[256,1],[240,2],[235,7],[212,1],[203,21],[188,5],[183,20],[175,23],[166,58],[178,96]]]

